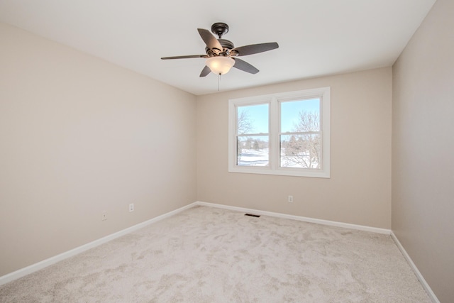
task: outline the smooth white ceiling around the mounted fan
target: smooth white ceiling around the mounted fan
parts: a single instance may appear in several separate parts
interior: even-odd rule
[[[0,21],[114,62],[192,94],[217,92],[200,78],[197,28],[227,23],[236,46],[274,42],[277,50],[241,59],[221,90],[391,66],[435,0],[0,0]]]

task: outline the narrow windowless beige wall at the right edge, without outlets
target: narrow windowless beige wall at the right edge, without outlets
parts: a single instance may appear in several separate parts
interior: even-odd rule
[[[454,1],[394,64],[392,230],[441,302],[454,298]]]

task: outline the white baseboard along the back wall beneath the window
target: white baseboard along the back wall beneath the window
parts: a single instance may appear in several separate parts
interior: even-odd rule
[[[194,204],[196,205],[201,205],[201,206],[211,206],[211,207],[217,207],[220,209],[230,209],[233,211],[243,211],[246,213],[252,213],[252,214],[260,214],[262,216],[276,216],[279,218],[284,218],[284,219],[292,219],[292,220],[297,220],[297,221],[304,221],[304,222],[309,222],[309,223],[316,223],[316,224],[323,224],[323,225],[329,225],[329,226],[337,226],[337,227],[343,227],[343,228],[351,228],[351,229],[357,229],[359,231],[371,231],[372,233],[382,233],[385,235],[390,235],[391,230],[385,229],[385,228],[377,228],[377,227],[370,227],[370,226],[363,226],[363,225],[356,225],[356,224],[348,224],[348,223],[342,223],[342,222],[336,222],[336,221],[328,221],[328,220],[321,220],[321,219],[313,219],[313,218],[308,218],[305,216],[294,216],[291,214],[280,214],[272,211],[259,211],[256,209],[245,209],[243,207],[237,207],[237,206],[228,206],[228,205],[223,205],[223,204],[214,204],[214,203],[207,203],[207,202],[195,202]]]

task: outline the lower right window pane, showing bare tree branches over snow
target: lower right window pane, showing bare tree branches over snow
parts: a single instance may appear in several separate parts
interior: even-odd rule
[[[282,135],[281,167],[320,169],[321,136],[319,134]]]

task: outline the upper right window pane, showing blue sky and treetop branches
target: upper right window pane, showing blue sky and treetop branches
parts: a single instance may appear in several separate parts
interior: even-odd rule
[[[320,131],[320,99],[281,102],[281,133]]]

